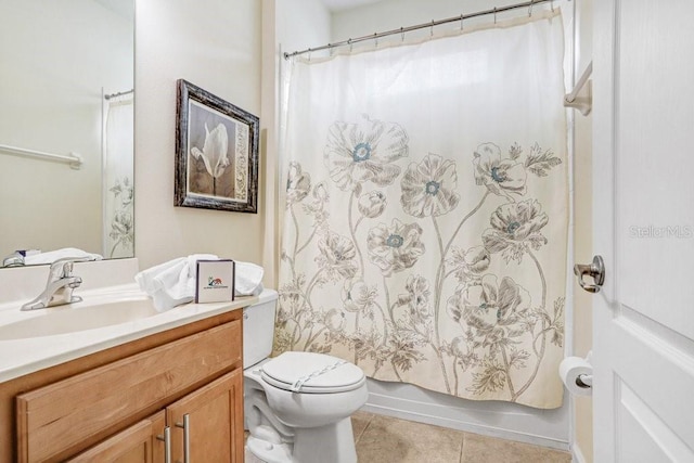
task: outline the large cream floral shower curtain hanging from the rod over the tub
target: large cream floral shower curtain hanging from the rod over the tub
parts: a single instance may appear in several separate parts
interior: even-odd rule
[[[560,13],[291,64],[275,353],[562,402]]]

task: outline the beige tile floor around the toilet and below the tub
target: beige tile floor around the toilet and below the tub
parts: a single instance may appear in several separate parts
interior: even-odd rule
[[[359,463],[570,463],[568,452],[357,412]],[[246,463],[261,463],[246,451]],[[330,462],[326,462],[330,463]]]

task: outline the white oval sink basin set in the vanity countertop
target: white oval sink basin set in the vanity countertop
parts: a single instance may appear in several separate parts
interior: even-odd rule
[[[41,312],[41,313],[38,313]],[[38,309],[34,317],[0,326],[0,340],[75,333],[156,316],[150,299],[126,299],[104,304],[76,303]]]

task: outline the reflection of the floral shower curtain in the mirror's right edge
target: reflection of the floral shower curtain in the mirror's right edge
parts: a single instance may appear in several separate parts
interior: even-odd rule
[[[133,223],[133,94],[105,101],[103,131],[103,255],[134,255]]]

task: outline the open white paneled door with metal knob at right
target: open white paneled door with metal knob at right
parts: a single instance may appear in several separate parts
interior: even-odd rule
[[[593,5],[595,462],[694,462],[694,1]]]

